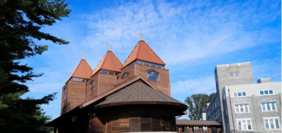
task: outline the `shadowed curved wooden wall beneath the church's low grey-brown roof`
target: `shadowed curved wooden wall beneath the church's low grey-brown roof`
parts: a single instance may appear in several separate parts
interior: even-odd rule
[[[91,130],[105,132],[175,131],[173,106],[130,105],[96,110],[99,126]],[[103,119],[105,123],[103,123]],[[92,121],[92,120],[91,120]],[[103,128],[101,127],[103,123]]]

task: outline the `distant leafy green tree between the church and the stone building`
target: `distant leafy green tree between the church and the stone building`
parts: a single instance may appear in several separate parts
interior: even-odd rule
[[[214,93],[210,95],[193,94],[191,97],[187,97],[185,99],[185,104],[188,105],[188,117],[191,120],[202,119],[202,113],[206,112],[207,103],[211,102],[214,95]]]

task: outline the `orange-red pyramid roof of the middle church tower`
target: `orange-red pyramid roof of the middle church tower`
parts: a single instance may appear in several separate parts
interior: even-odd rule
[[[100,69],[120,72],[121,62],[117,59],[112,51],[107,51],[105,56],[102,58],[92,75],[98,72]],[[91,76],[92,76],[91,75]]]

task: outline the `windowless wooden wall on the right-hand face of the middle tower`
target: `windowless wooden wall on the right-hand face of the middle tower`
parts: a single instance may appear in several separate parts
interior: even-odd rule
[[[116,76],[117,75],[99,73],[98,96],[116,86]]]

